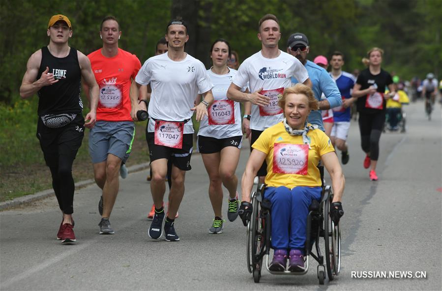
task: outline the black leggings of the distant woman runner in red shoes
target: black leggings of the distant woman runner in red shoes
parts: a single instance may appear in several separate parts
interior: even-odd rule
[[[361,133],[362,150],[370,153],[370,159],[377,161],[379,158],[379,140],[385,123],[385,111],[376,114],[359,112],[359,130]]]

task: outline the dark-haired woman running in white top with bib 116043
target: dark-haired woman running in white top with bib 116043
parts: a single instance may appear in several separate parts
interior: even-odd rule
[[[227,217],[230,221],[236,219],[239,208],[236,192],[238,178],[235,171],[242,145],[241,112],[239,103],[227,98],[227,89],[236,75],[236,70],[227,66],[230,56],[229,43],[224,39],[215,40],[210,48],[213,66],[207,70],[207,75],[214,85],[212,92],[215,101],[207,108],[208,116],[201,120],[198,131],[198,149],[209,175],[208,192],[215,214],[209,233],[222,233],[225,222],[221,213],[221,184],[229,191]]]

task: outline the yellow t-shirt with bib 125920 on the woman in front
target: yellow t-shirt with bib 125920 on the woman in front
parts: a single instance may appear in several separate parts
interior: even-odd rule
[[[334,151],[330,139],[320,129],[307,133],[310,147],[304,145],[302,136],[291,136],[282,122],[267,128],[252,145],[267,156],[267,186],[321,186],[317,167],[321,156]]]

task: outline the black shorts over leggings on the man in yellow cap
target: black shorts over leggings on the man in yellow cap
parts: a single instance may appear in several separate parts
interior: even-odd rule
[[[84,124],[82,114],[77,114],[71,123],[59,128],[49,128],[38,118],[36,136],[48,166],[48,161],[57,159],[60,154],[75,159],[85,135]]]

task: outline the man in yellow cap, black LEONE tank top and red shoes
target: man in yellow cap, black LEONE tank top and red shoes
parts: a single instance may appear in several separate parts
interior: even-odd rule
[[[49,45],[33,53],[28,60],[20,96],[29,98],[38,94],[37,138],[51,170],[52,186],[63,214],[57,239],[72,244],[76,242],[72,219],[72,163],[81,146],[84,127],[92,128],[95,124],[99,88],[89,59],[68,45],[72,37],[69,18],[61,14],[52,16],[47,34]],[[80,98],[82,78],[90,94],[86,123]]]

